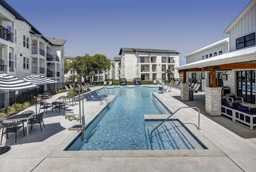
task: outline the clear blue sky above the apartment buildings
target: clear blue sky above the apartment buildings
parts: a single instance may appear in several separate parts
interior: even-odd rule
[[[121,47],[186,54],[228,37],[250,0],[6,0],[45,37],[66,39],[65,56],[118,56]]]

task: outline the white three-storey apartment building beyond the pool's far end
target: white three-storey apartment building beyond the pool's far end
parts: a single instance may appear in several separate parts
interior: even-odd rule
[[[121,48],[121,75],[127,80],[140,77],[141,80],[168,80],[179,78],[179,52],[162,49]],[[166,73],[170,69],[172,75]]]

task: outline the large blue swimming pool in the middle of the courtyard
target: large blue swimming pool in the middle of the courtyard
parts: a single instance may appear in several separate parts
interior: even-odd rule
[[[109,109],[103,110],[86,128],[84,141],[78,138],[67,150],[204,149],[194,136],[189,137],[188,132],[185,133],[186,129],[178,120],[167,121],[165,123],[167,129],[164,128],[163,131],[156,130],[157,137],[153,141],[160,139],[160,142],[158,143],[156,140],[153,145],[150,143],[148,132],[151,132],[159,122],[145,120],[144,115],[171,113],[152,95],[152,92],[157,92],[157,88],[106,89],[107,95],[118,96],[110,103]],[[102,90],[99,90],[99,94],[103,94]],[[181,129],[181,127],[183,128]],[[175,141],[171,141],[172,135],[161,137],[160,133],[163,132],[175,132],[176,134],[173,135]],[[184,137],[180,137],[182,135]],[[178,146],[163,146],[162,138],[169,142],[166,145],[175,145],[176,143]],[[184,141],[192,138],[194,140]],[[194,143],[197,146],[190,146]]]

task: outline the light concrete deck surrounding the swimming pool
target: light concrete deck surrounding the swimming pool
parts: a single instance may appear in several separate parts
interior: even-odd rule
[[[146,85],[143,85],[146,86]],[[155,86],[155,85],[149,85]],[[113,88],[110,86],[109,88]],[[133,87],[133,86],[128,86]],[[96,86],[92,89],[100,89]],[[47,102],[54,101],[61,95],[54,95]],[[172,96],[179,90],[155,95],[174,112],[186,106]],[[200,93],[199,93],[200,94]],[[114,96],[109,96],[113,99]],[[104,108],[98,101],[84,101],[86,123],[93,115]],[[196,106],[196,105],[195,105]],[[38,107],[39,108],[39,107]],[[31,106],[26,110],[34,110]],[[68,106],[68,111],[79,112],[79,105]],[[70,140],[78,133],[67,129],[79,122],[65,120],[58,112],[50,111],[44,115],[45,129],[39,126],[29,130],[29,136],[17,133],[10,135],[6,145],[12,149],[0,155],[1,171],[255,171],[256,138],[244,139],[225,129],[218,123],[201,115],[201,130],[194,125],[186,126],[206,143],[209,150],[141,150],[141,151],[63,151]],[[187,123],[198,124],[198,113],[192,109],[182,109],[173,118]],[[5,140],[3,140],[5,143]],[[140,156],[137,156],[140,154]]]

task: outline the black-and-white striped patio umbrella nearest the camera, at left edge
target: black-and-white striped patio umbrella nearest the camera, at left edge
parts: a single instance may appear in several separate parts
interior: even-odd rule
[[[37,87],[15,76],[0,73],[0,90],[32,89]]]

